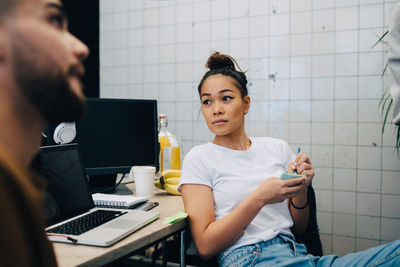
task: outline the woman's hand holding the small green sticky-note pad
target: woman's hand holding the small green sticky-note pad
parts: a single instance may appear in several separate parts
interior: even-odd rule
[[[303,191],[306,188],[306,180],[306,177],[289,180],[271,177],[263,181],[252,194],[255,194],[254,197],[263,205],[280,203]]]

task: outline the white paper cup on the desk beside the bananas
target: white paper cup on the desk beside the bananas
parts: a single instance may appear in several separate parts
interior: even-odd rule
[[[152,166],[133,166],[130,174],[135,181],[136,196],[153,197],[154,175],[156,168]]]

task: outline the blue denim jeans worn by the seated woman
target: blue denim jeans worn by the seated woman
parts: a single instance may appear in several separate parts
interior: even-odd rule
[[[218,256],[220,266],[400,266],[400,240],[343,257],[307,254],[303,244],[294,237],[277,237],[254,245],[239,247]]]

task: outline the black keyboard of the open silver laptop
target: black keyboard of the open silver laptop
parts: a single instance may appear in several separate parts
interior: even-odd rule
[[[46,232],[54,234],[80,235],[125,213],[126,212],[113,210],[95,210],[85,216],[49,229]]]

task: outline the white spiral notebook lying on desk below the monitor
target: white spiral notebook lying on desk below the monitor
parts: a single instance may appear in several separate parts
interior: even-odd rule
[[[137,197],[113,194],[92,194],[93,202],[96,207],[131,209],[149,200],[148,197]]]

